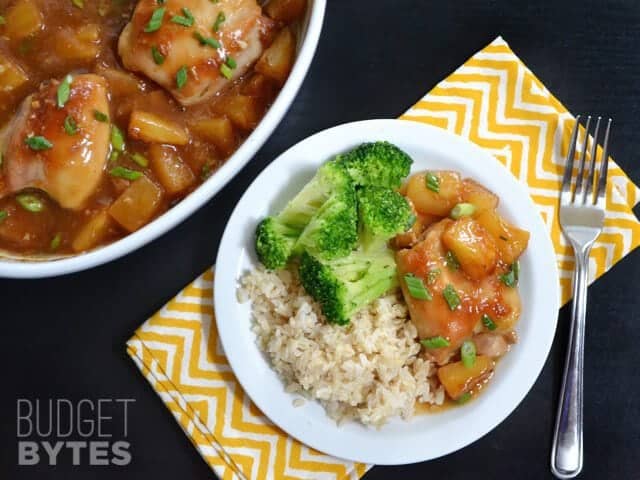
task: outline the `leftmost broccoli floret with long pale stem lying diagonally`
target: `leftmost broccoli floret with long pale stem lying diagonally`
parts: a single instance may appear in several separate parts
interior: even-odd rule
[[[282,212],[265,218],[258,225],[256,253],[264,266],[269,270],[284,268],[298,238],[327,200],[336,192],[353,191],[353,188],[353,181],[344,166],[327,162],[320,167]]]

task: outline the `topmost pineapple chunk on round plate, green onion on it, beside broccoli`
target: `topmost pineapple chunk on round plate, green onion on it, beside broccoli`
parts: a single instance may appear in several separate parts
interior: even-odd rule
[[[427,188],[426,175],[438,179],[438,191]],[[445,217],[462,198],[462,181],[457,172],[433,171],[412,176],[407,184],[407,197],[419,213]]]

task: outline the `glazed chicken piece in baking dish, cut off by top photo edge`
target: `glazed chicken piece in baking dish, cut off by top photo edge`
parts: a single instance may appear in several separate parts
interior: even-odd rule
[[[261,13],[256,0],[140,0],[118,52],[127,69],[156,81],[182,105],[193,105],[258,59],[261,35],[271,25]]]

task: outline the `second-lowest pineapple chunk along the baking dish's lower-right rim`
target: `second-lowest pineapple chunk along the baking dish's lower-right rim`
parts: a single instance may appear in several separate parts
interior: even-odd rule
[[[109,207],[109,215],[129,232],[146,224],[160,207],[162,189],[142,176]]]

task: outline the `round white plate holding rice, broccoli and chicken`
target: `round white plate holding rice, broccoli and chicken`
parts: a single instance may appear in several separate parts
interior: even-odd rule
[[[351,422],[337,426],[314,401],[293,407],[293,395],[269,366],[251,331],[250,304],[236,299],[238,280],[258,265],[256,224],[277,212],[333,155],[362,142],[388,140],[414,160],[412,171],[451,169],[500,196],[500,212],[531,232],[521,259],[520,343],[502,359],[476,400],[438,414],[394,419],[379,430]],[[558,314],[555,255],[525,188],[491,155],[439,128],[401,120],[371,120],[325,130],[298,143],[267,167],[236,206],[224,232],[215,275],[215,311],[222,346],[253,402],[301,442],[337,457],[375,464],[430,460],[458,450],[495,428],[525,397],[549,353]]]

